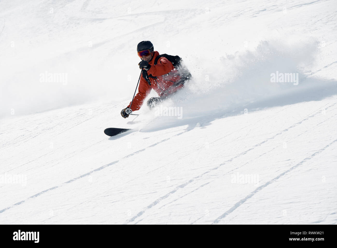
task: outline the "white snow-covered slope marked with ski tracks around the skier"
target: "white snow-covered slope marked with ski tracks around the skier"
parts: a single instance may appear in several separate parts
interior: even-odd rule
[[[180,116],[120,116],[142,40]],[[337,222],[335,0],[1,1],[0,56],[0,224]]]

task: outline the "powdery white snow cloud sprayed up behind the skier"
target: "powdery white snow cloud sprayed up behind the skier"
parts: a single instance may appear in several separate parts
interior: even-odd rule
[[[194,118],[208,122],[233,111],[244,112],[247,104],[301,91],[309,84],[304,70],[311,66],[317,52],[314,38],[288,37],[263,40],[254,50],[209,58],[201,65],[198,61],[195,64],[200,67],[191,68],[193,80],[160,106],[166,110],[180,108],[180,119],[166,114],[166,118],[156,118],[151,127],[143,130],[186,124],[194,127]]]

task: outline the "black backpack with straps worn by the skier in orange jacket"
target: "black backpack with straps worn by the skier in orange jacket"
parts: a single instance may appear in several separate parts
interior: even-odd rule
[[[168,61],[170,61],[173,66],[178,70],[181,80],[178,82],[175,82],[174,85],[178,86],[180,84],[184,84],[186,80],[191,79],[192,75],[188,71],[187,67],[184,65],[182,58],[180,58],[178,55],[173,56],[173,55],[168,55],[166,53],[164,54],[159,54],[155,59],[154,59],[154,65],[158,63],[158,59],[164,57],[167,58]],[[148,75],[146,70],[143,70],[143,78],[148,82],[148,84],[151,86],[151,81],[149,78],[154,78],[157,79],[157,77],[152,76],[152,74]]]

